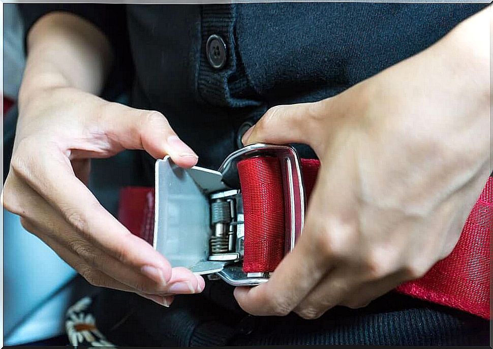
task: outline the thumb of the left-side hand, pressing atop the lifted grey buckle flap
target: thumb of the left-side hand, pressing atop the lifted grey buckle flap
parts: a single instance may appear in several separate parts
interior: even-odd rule
[[[175,164],[192,167],[197,164],[197,154],[173,131],[166,117],[152,110],[110,103],[103,117],[107,136],[125,149],[142,149],[155,158],[170,155]],[[115,119],[115,115],[119,117]]]

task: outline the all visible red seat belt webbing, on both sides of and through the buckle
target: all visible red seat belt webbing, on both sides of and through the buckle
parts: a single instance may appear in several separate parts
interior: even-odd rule
[[[284,233],[279,163],[275,165],[274,162],[260,157],[248,160],[240,162],[238,166],[245,210],[245,235],[250,237],[252,228],[254,242],[255,239],[262,240],[262,236],[275,236],[276,242],[264,241],[265,246],[269,246],[265,248],[258,242],[247,247],[249,243],[245,241],[245,263],[251,261],[250,267],[273,270],[272,267],[275,268],[281,260],[279,251],[284,251],[284,238],[279,237],[281,228]],[[301,165],[305,192],[310,195],[319,162],[302,159]],[[152,243],[153,207],[154,188],[126,187],[120,193],[118,218],[133,234]],[[450,255],[438,262],[422,278],[403,283],[395,291],[489,319],[489,237],[492,216],[493,178],[489,177]],[[259,233],[258,227],[263,227],[265,232]],[[281,240],[283,243],[280,243]],[[255,246],[259,246],[259,249]],[[258,260],[251,259],[251,252],[258,254]]]

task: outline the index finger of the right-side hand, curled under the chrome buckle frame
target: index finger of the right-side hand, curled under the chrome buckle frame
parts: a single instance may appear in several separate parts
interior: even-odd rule
[[[350,245],[351,225],[326,214],[327,200],[316,185],[302,233],[269,281],[252,289],[238,288],[238,304],[254,315],[283,315],[293,310],[337,263]],[[329,207],[330,208],[330,207]]]

